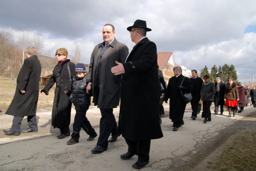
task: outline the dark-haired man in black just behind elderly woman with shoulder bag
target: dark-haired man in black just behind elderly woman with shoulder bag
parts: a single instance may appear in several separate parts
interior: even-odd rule
[[[196,117],[197,117],[197,111],[198,111],[198,106],[199,106],[198,103],[199,103],[200,98],[201,98],[200,91],[201,91],[201,88],[202,88],[203,79],[196,76],[197,71],[195,69],[191,70],[191,74],[192,74],[192,77],[189,78],[189,80],[192,84],[192,87],[193,87],[193,91],[191,92],[192,100],[190,102],[191,108],[193,110],[191,118],[193,120],[195,120]]]

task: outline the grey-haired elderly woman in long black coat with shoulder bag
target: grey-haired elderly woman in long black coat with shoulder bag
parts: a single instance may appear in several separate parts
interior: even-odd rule
[[[193,88],[188,77],[182,75],[182,69],[180,66],[173,67],[174,77],[171,77],[168,82],[165,102],[167,103],[170,98],[170,115],[169,118],[173,122],[173,131],[177,131],[179,127],[184,125],[183,115],[186,108],[182,93],[190,93]],[[184,79],[183,83],[182,80]],[[181,85],[182,83],[182,85]]]

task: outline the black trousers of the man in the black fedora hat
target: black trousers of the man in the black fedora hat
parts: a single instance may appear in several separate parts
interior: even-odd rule
[[[151,140],[131,141],[125,138],[125,141],[128,144],[128,152],[138,155],[138,160],[143,162],[147,162],[149,160]]]

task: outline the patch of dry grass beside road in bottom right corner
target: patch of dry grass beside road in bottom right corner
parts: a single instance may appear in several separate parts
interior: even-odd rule
[[[242,130],[212,167],[216,171],[256,170],[256,132]]]

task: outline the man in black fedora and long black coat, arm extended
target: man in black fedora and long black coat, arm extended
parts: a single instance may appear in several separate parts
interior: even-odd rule
[[[111,72],[122,74],[118,133],[125,138],[128,152],[120,157],[126,160],[138,155],[132,167],[139,169],[149,162],[150,140],[163,137],[159,123],[157,53],[155,43],[146,37],[147,31],[151,31],[146,21],[136,20],[127,30],[136,45],[125,62],[116,61],[117,66]]]

